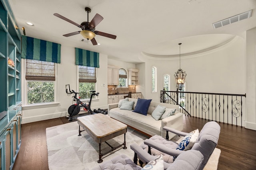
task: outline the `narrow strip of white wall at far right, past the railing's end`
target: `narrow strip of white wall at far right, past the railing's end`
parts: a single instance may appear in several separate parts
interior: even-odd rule
[[[256,130],[256,28],[246,31],[246,123]]]

